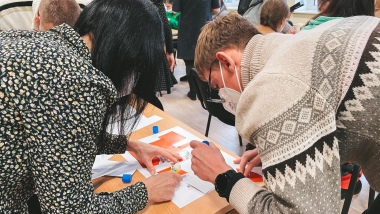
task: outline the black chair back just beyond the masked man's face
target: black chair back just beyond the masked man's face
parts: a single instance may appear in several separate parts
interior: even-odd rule
[[[230,112],[226,111],[223,107],[223,104],[221,103],[212,103],[207,102],[208,97],[208,83],[203,82],[197,72],[195,71],[195,68],[191,70],[191,77],[194,78],[194,84],[195,84],[195,91],[197,93],[197,97],[199,101],[201,102],[202,107],[207,110],[212,116],[217,117],[220,121],[230,125],[235,126],[235,115],[231,114]],[[217,90],[211,89],[211,98],[213,99],[220,99],[218,95]]]

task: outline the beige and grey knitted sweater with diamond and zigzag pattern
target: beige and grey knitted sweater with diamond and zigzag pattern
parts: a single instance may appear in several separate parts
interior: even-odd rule
[[[339,213],[339,165],[380,191],[380,19],[256,35],[242,60],[236,129],[258,150],[268,190],[232,188],[239,213]]]

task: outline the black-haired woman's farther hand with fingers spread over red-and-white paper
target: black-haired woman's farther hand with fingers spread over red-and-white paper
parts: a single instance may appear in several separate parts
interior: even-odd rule
[[[182,157],[175,152],[133,139],[129,139],[127,150],[136,154],[136,156],[146,165],[146,168],[151,175],[154,175],[156,173],[156,168],[153,166],[152,159],[158,155],[169,159],[173,163],[178,162],[176,158],[178,160],[182,159]]]

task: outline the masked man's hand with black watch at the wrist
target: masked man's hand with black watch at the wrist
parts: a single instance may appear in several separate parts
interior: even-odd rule
[[[219,174],[232,169],[224,160],[218,147],[212,142],[210,142],[210,146],[207,146],[202,142],[193,140],[190,146],[193,148],[191,169],[200,179],[214,183]]]

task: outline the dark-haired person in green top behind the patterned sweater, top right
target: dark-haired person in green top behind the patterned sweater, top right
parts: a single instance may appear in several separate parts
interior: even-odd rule
[[[302,30],[311,30],[334,19],[351,16],[374,16],[374,0],[324,0],[319,3],[320,13],[314,16]]]

